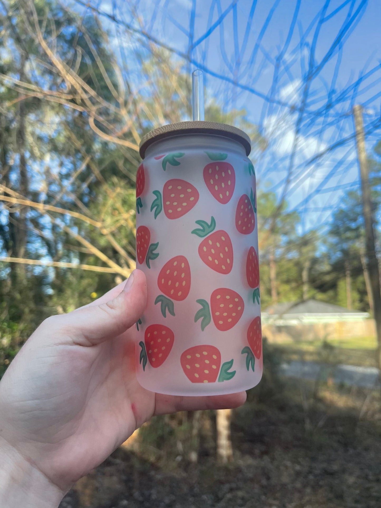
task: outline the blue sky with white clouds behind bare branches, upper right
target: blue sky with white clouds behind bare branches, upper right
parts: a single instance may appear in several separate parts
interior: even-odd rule
[[[210,71],[205,73],[209,97],[214,97],[227,110],[244,107],[248,119],[259,124],[269,141],[269,149],[264,154],[252,154],[257,161],[260,185],[274,190],[279,199],[285,193],[289,208],[298,210],[303,217],[301,230],[327,224],[343,193],[358,186],[354,142],[350,140],[340,146],[340,140],[353,135],[353,103],[365,103],[366,125],[371,126],[380,117],[377,93],[381,90],[381,2],[140,0],[136,5],[141,27],[149,35],[193,60],[187,66],[189,72],[197,64]],[[104,1],[100,8],[112,12],[111,6]],[[139,26],[131,13],[131,4],[117,3],[117,6],[113,12],[116,17]],[[263,31],[272,8],[271,20]],[[299,117],[316,16],[316,20],[319,16],[324,18],[314,49],[315,66],[322,63],[322,68],[311,80],[305,111]],[[218,23],[221,17],[223,23]],[[347,30],[343,25],[346,17],[353,18]],[[252,22],[248,25],[250,18]],[[292,33],[290,26],[293,26]],[[342,46],[338,45],[325,61],[327,51],[340,33]],[[304,37],[302,45],[301,36]],[[276,57],[280,53],[282,58],[274,84]],[[361,73],[371,69],[375,71],[358,88],[348,88]],[[347,93],[341,97],[340,91],[344,89]],[[356,98],[353,91],[357,93]],[[330,94],[336,105],[324,115]],[[294,146],[296,129],[298,137]],[[379,129],[373,129],[367,138],[369,151],[378,136]],[[335,150],[311,163],[316,154],[336,144],[339,146]],[[290,184],[285,188],[290,167]]]

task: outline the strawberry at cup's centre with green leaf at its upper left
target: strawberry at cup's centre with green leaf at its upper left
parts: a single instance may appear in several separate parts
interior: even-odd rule
[[[230,273],[233,268],[233,245],[228,233],[218,230],[210,234],[215,229],[214,217],[211,218],[210,224],[205,220],[196,220],[196,224],[201,226],[201,229],[194,229],[194,235],[200,238],[209,235],[199,245],[201,260],[218,273]]]

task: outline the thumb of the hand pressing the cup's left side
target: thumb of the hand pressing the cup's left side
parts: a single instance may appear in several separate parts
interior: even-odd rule
[[[82,346],[100,344],[134,325],[144,312],[146,300],[145,275],[134,270],[115,298],[56,316],[61,318],[61,327],[56,323],[57,335],[65,331],[71,343]]]

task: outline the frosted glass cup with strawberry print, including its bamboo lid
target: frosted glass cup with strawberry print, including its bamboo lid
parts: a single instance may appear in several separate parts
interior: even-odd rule
[[[139,383],[169,395],[234,393],[262,377],[255,170],[230,125],[165,125],[141,142],[136,324]]]

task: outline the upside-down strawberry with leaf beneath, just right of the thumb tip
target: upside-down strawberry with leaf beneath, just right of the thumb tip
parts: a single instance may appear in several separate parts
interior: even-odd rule
[[[158,295],[155,300],[161,304],[161,311],[167,317],[167,309],[170,314],[175,315],[173,301],[185,300],[190,290],[190,267],[184,256],[176,256],[170,259],[160,270],[157,277],[157,285],[164,295]],[[168,298],[167,298],[168,297]]]

